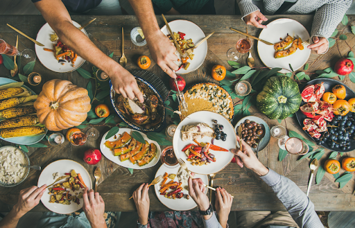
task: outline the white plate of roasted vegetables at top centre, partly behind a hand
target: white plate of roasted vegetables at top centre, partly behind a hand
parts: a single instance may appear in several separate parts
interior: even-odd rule
[[[182,53],[187,51],[187,49],[193,48],[195,44],[205,38],[205,33],[203,33],[202,29],[191,21],[175,20],[170,21],[168,24],[171,31],[174,33],[176,41],[180,44]],[[161,30],[162,33],[167,35],[171,42],[173,42],[166,26],[163,26]],[[176,71],[176,73],[184,74],[195,71],[205,61],[207,55],[207,41],[200,44],[196,49],[193,49],[192,54],[186,58],[182,58],[178,51],[176,52],[176,55],[178,55],[179,58],[179,61],[177,62],[179,70]]]

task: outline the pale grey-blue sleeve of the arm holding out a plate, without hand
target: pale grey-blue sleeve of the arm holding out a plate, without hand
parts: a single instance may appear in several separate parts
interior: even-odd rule
[[[268,186],[276,193],[277,198],[284,204],[288,213],[300,227],[322,227],[314,205],[298,186],[282,175],[269,170],[266,175],[261,176]]]

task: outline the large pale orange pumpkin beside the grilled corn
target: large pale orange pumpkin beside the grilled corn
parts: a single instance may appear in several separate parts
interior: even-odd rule
[[[60,79],[44,83],[33,105],[40,123],[51,131],[80,125],[92,108],[86,89]]]

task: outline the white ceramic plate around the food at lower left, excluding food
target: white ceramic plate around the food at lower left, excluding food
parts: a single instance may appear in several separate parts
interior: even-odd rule
[[[42,173],[40,175],[40,178],[38,178],[38,186],[42,186],[43,184],[52,184],[55,179],[53,179],[53,173],[59,174],[59,176],[64,176],[64,173],[70,173],[71,170],[75,170],[76,173],[80,173],[81,177],[83,177],[83,181],[85,182],[85,185],[89,188],[92,189],[92,178],[90,177],[89,173],[87,172],[86,168],[82,166],[81,164],[78,164],[78,162],[69,160],[69,159],[62,159],[58,161],[53,161],[51,164],[46,166],[44,170],[42,170]],[[67,179],[63,179],[61,182],[65,182]],[[58,182],[60,183],[60,182]],[[84,189],[80,189],[80,191],[70,191],[71,195],[73,193],[80,193],[83,192]],[[73,213],[75,211],[78,211],[78,209],[81,209],[83,207],[83,198],[80,199],[80,204],[76,204],[75,202],[70,202],[70,205],[63,205],[63,204],[55,204],[55,203],[50,203],[49,201],[51,200],[51,195],[49,195],[49,190],[46,188],[46,191],[44,191],[44,194],[42,195],[41,201],[44,206],[49,209],[50,211],[53,211],[55,213]]]

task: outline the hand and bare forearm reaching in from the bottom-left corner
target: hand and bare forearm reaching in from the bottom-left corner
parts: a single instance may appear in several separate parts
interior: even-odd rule
[[[19,219],[28,211],[31,211],[41,200],[42,195],[46,189],[46,184],[38,188],[31,186],[19,192],[19,200],[11,211],[0,221],[2,228],[16,228]]]

